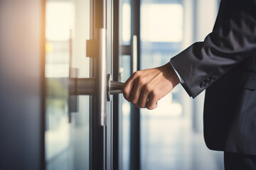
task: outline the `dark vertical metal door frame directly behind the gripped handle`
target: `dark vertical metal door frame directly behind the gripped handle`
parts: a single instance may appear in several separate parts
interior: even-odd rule
[[[107,74],[112,74],[112,0],[90,0],[90,39],[97,39],[97,29],[106,29]],[[90,77],[97,73],[97,57],[90,58]],[[107,75],[106,75],[107,77]],[[107,87],[106,87],[107,88]],[[107,98],[105,98],[107,101]],[[90,169],[112,169],[112,102],[106,103],[106,125],[99,125],[99,98],[90,96]]]

